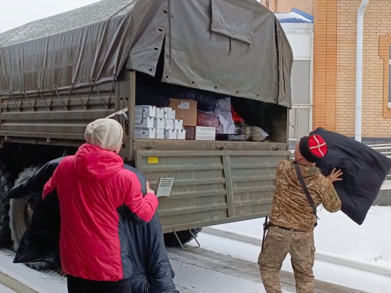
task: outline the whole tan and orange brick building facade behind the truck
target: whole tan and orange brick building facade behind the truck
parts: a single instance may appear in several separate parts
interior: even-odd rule
[[[273,12],[314,17],[312,126],[354,136],[356,19],[361,0],[261,0]],[[370,0],[364,17],[365,143],[391,143],[391,1]]]

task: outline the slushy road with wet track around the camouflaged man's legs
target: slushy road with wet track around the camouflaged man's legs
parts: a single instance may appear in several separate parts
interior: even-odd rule
[[[168,249],[180,293],[264,293],[257,264],[205,249]],[[294,293],[293,274],[281,273],[284,293]],[[316,293],[362,293],[315,281]]]

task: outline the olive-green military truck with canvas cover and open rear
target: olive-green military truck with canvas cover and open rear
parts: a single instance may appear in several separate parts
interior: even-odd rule
[[[292,60],[256,0],[103,0],[0,34],[1,243],[19,245],[40,196],[7,200],[8,190],[75,153],[87,124],[104,117],[124,127],[125,162],[152,188],[168,187],[158,209],[167,243],[266,215],[288,158]],[[231,97],[267,141],[134,138],[141,75]]]

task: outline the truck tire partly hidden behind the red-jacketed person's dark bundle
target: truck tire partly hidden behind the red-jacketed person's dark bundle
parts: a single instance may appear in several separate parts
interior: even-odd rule
[[[15,185],[30,179],[38,169],[38,166],[25,168],[23,172],[19,174],[18,179],[15,181]],[[39,194],[37,196],[26,196],[22,199],[10,200],[10,229],[11,239],[14,242],[15,251],[19,247],[24,231],[30,224],[35,204],[38,201],[38,196]],[[44,270],[54,267],[54,263],[51,262],[26,263],[26,265],[36,270]]]

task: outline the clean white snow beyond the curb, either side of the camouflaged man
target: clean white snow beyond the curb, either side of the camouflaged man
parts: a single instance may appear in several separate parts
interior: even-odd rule
[[[391,269],[391,207],[371,207],[359,226],[343,212],[318,211],[316,252]],[[242,234],[262,237],[264,219],[218,225]]]

